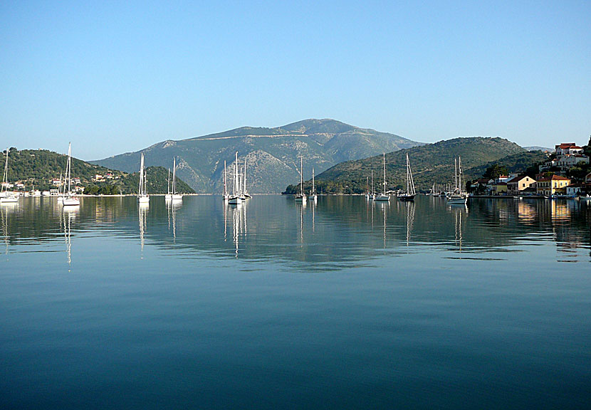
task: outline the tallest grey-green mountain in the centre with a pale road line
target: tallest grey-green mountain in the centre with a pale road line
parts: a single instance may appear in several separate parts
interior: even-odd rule
[[[335,120],[303,120],[283,127],[241,127],[188,140],[167,140],[138,152],[128,152],[98,161],[103,167],[134,172],[140,167],[140,153],[148,165],[168,168],[177,159],[177,175],[199,192],[221,192],[224,161],[228,169],[239,153],[246,160],[246,183],[251,193],[281,192],[297,181],[300,157],[304,177],[310,177],[342,161],[376,155],[384,150],[420,145],[387,132],[354,127]]]

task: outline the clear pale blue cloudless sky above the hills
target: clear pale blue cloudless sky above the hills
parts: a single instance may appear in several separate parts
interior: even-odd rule
[[[587,143],[590,1],[2,1],[0,145],[82,159],[334,118]]]

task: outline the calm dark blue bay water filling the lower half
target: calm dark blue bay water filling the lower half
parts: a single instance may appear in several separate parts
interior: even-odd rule
[[[591,204],[1,206],[2,409],[582,409]]]

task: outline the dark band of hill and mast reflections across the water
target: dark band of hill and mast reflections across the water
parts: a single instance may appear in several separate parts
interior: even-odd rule
[[[137,238],[139,226],[142,258],[150,243],[188,250],[186,255],[193,258],[207,252],[245,261],[340,269],[371,263],[383,253],[452,251],[469,252],[472,258],[489,258],[490,253],[507,258],[507,251],[523,252],[523,246],[553,242],[558,261],[581,261],[582,256],[590,260],[591,206],[575,201],[482,199],[452,207],[422,196],[414,203],[392,204],[323,196],[318,204],[302,206],[289,199],[260,196],[241,206],[227,206],[210,196],[188,197],[182,204],[155,197],[150,207],[138,207],[133,197],[85,198],[83,206],[68,211],[51,199],[26,198],[19,208],[3,206],[0,212],[5,253],[9,246],[14,252],[14,243],[38,245],[55,240],[58,233],[67,244],[70,241],[68,263],[74,223],[85,236],[114,238]],[[383,252],[378,255],[377,249]]]

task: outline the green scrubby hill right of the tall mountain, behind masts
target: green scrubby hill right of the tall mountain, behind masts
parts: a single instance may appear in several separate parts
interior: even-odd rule
[[[461,156],[466,179],[480,177],[481,167],[504,157],[516,156],[513,161],[521,164],[538,158],[539,154],[528,153],[518,144],[502,138],[467,137],[454,138],[426,144],[420,147],[401,149],[386,154],[386,179],[389,189],[402,189],[406,186],[406,154],[412,167],[417,190],[429,189],[432,184],[446,184],[454,180],[454,158]],[[543,155],[543,154],[541,154]],[[485,168],[486,169],[486,168]],[[374,172],[376,191],[380,190],[382,177],[382,155],[356,161],[342,162],[316,177],[320,191],[360,193],[366,189],[367,177]],[[305,186],[309,186],[306,182]],[[293,192],[297,186],[288,186],[287,192]]]

